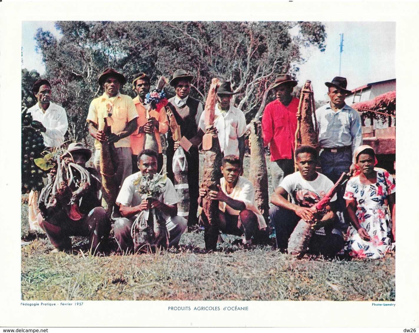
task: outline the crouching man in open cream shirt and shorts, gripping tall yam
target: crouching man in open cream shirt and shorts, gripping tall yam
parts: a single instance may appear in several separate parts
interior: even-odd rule
[[[250,247],[252,236],[256,231],[266,228],[265,219],[259,212],[254,200],[253,185],[248,179],[239,176],[241,172],[239,156],[225,156],[222,159],[221,172],[223,177],[220,179],[221,186],[218,186],[220,191],[209,191],[207,193],[205,189],[199,189],[200,206],[202,206],[202,197],[205,195],[219,201],[218,225],[204,225],[204,228],[218,228],[225,234],[243,236],[241,243],[244,247]],[[201,214],[204,214],[203,210]],[[202,220],[207,219],[203,218]],[[207,251],[215,251],[216,248],[217,243],[215,242],[211,248],[207,248]]]

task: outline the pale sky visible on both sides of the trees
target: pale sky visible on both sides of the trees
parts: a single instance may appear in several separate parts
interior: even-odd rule
[[[327,99],[327,87],[339,76],[340,33],[344,34],[341,59],[341,75],[348,80],[352,90],[367,83],[396,78],[396,23],[394,22],[323,22],[326,26],[326,51],[316,48],[302,49],[305,59],[297,73],[299,85],[312,82],[316,100]],[[60,38],[54,21],[22,22],[22,67],[45,72],[41,54],[36,53],[34,37],[43,28]]]

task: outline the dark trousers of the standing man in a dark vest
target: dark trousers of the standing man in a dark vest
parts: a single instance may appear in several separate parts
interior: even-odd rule
[[[167,156],[167,177],[174,182],[174,175],[172,170],[173,163],[173,146],[168,146],[166,149]],[[188,163],[188,184],[189,184],[189,217],[188,226],[198,224],[197,212],[198,212],[198,197],[199,197],[199,152],[195,147],[191,147],[189,152],[186,154],[186,162]]]

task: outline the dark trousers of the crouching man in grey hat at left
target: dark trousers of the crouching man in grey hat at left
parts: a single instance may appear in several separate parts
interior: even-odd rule
[[[77,221],[70,219],[65,210],[47,221],[39,214],[38,223],[52,245],[60,251],[71,249],[70,236],[87,236],[92,254],[101,252],[111,230],[106,211],[102,207],[93,208]]]

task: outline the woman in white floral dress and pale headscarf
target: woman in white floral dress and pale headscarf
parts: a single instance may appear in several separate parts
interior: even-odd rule
[[[386,170],[374,167],[377,160],[370,146],[354,151],[354,164],[357,172],[344,195],[352,220],[347,251],[355,258],[382,258],[391,248],[391,235],[396,241],[396,182]]]

